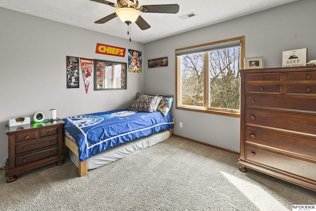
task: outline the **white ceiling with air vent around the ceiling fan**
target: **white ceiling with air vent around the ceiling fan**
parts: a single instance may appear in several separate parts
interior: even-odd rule
[[[116,3],[116,0],[108,1]],[[151,28],[142,31],[135,23],[131,24],[131,39],[151,42],[292,1],[296,0],[139,0],[139,5],[177,3],[180,9],[177,14],[141,12]],[[94,23],[117,10],[103,3],[90,0],[0,0],[0,7],[129,39],[127,25],[118,17],[105,24]],[[192,12],[197,15],[185,20],[179,18]]]

